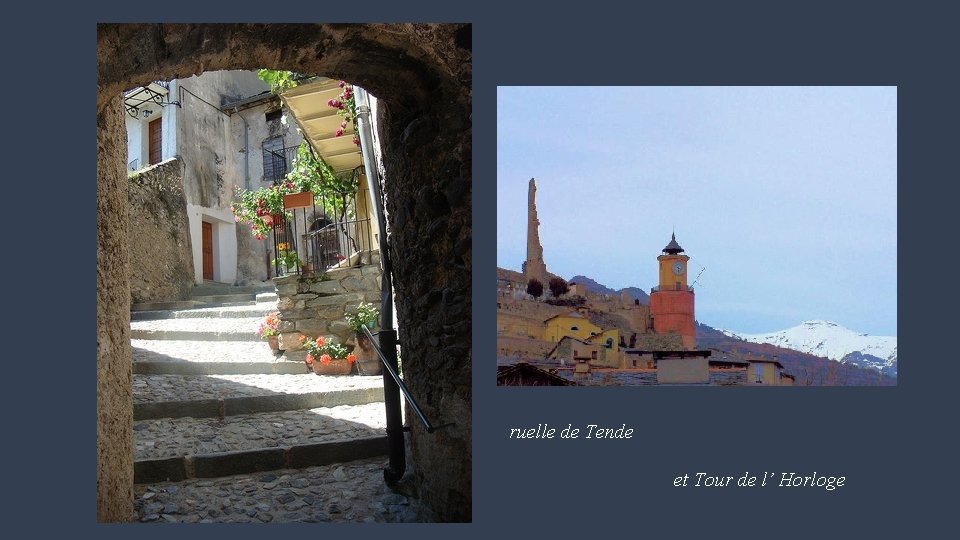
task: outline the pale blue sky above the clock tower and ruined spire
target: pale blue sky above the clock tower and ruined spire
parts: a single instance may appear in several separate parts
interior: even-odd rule
[[[500,87],[500,267],[530,178],[567,279],[649,292],[676,230],[701,322],[897,333],[896,87]]]

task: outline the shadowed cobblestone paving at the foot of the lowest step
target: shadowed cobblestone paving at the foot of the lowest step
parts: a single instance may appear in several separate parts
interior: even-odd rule
[[[384,458],[134,485],[144,523],[414,523],[433,521],[417,499],[383,481]]]

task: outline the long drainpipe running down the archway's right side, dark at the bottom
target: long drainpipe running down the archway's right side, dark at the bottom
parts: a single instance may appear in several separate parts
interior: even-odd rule
[[[373,201],[374,217],[377,220],[380,244],[380,349],[386,357],[387,363],[398,371],[397,362],[397,331],[393,329],[393,282],[391,273],[393,265],[390,263],[390,250],[387,246],[387,223],[383,216],[383,194],[380,193],[379,169],[373,155],[373,129],[370,124],[370,99],[366,90],[358,86],[353,87],[357,104],[357,131],[360,137],[360,155],[363,157],[363,168],[367,173],[367,187]],[[400,387],[393,380],[387,370],[383,370],[383,398],[387,413],[387,445],[389,448],[390,463],[383,470],[383,478],[387,484],[397,483],[406,469],[403,416],[400,410]]]

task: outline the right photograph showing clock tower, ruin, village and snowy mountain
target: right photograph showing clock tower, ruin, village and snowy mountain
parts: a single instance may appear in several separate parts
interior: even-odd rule
[[[896,336],[895,86],[498,87],[498,386],[895,386]]]

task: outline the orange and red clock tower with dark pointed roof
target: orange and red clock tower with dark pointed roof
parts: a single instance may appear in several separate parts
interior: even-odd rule
[[[658,334],[675,332],[683,339],[683,347],[692,350],[697,343],[693,317],[693,288],[687,285],[687,261],[676,235],[657,257],[660,284],[650,291],[650,316]]]

